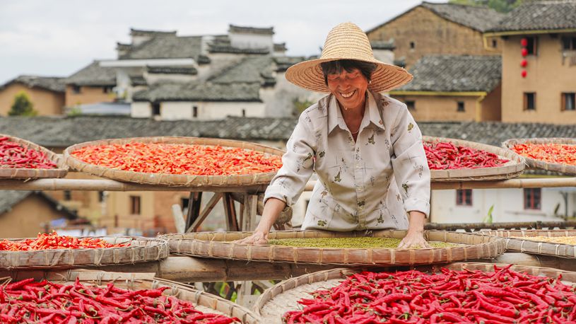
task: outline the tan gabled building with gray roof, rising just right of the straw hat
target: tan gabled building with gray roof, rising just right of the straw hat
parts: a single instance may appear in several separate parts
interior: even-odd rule
[[[498,40],[482,34],[504,15],[482,6],[423,2],[366,31],[368,39],[394,41],[394,63],[411,68],[430,54],[497,55]]]

